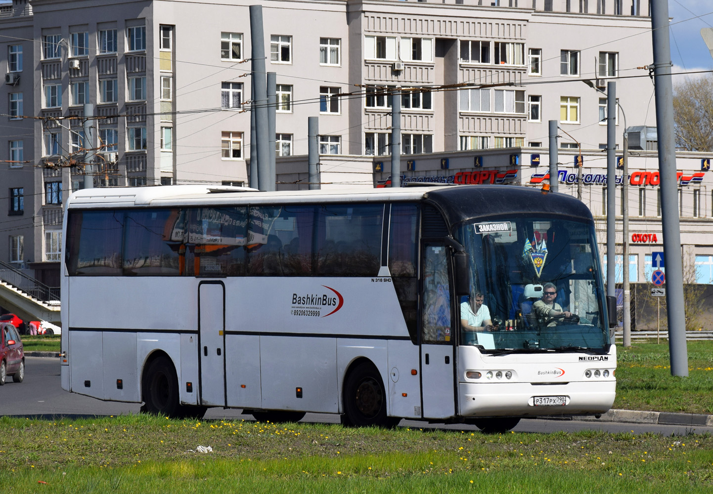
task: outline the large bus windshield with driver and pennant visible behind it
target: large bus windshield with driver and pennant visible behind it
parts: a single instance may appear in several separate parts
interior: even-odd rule
[[[606,351],[594,225],[517,215],[471,220],[458,240],[471,262],[461,297],[461,344],[487,353]]]

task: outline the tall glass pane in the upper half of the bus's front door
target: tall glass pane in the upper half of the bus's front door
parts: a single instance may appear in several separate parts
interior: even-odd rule
[[[451,295],[446,247],[424,246],[424,294],[421,343],[451,341]]]

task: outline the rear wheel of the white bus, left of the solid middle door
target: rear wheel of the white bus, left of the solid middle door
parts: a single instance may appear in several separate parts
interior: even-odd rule
[[[148,364],[141,387],[144,401],[141,411],[161,416],[180,416],[178,377],[168,356],[159,356]]]

